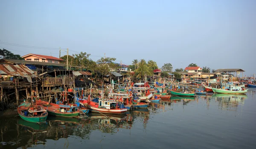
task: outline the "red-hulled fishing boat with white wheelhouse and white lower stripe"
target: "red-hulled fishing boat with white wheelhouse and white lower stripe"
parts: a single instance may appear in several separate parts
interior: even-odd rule
[[[87,104],[91,112],[100,112],[108,114],[125,114],[127,108],[125,108],[122,100],[111,100],[100,98],[97,100],[90,100],[90,95],[87,100],[79,99],[79,103]]]

